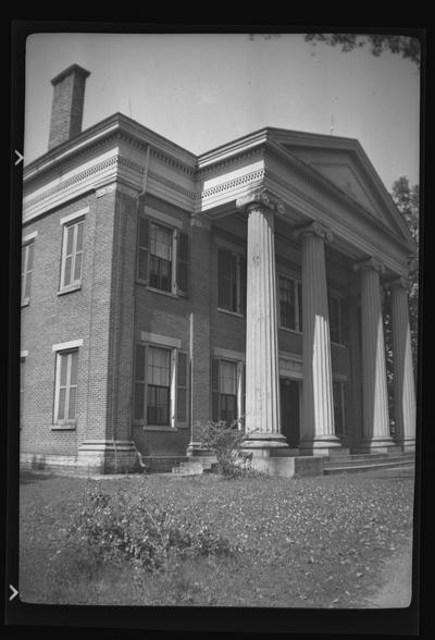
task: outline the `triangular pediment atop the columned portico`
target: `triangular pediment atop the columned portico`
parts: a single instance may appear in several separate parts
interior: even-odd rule
[[[269,130],[269,137],[393,233],[412,243],[406,223],[358,140],[286,130]]]

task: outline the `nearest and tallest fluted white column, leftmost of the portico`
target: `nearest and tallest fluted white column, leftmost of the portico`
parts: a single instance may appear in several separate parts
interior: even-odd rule
[[[237,201],[248,214],[246,430],[248,446],[287,446],[281,433],[274,210],[265,190]]]

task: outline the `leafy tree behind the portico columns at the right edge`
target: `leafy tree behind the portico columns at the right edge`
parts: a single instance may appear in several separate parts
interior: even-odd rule
[[[415,244],[419,245],[419,213],[420,213],[420,190],[419,185],[410,186],[409,180],[403,175],[400,176],[393,184],[391,189],[393,200],[403,218]],[[418,340],[419,340],[419,256],[412,255],[409,259],[409,322],[411,330],[411,348],[412,348],[412,364],[414,373],[418,365]],[[391,344],[391,328],[390,328],[390,293],[386,291],[385,298],[385,343],[386,343],[386,365],[387,365],[387,380],[388,380],[388,399],[389,399],[389,415],[393,413],[393,344]],[[394,424],[393,424],[394,430]]]

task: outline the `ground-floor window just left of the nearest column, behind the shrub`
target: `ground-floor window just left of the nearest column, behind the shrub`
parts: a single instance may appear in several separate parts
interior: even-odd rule
[[[212,360],[212,420],[233,424],[245,411],[243,362]]]

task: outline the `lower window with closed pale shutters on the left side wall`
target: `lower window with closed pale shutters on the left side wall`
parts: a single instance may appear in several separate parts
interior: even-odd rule
[[[55,362],[54,423],[76,421],[78,349],[58,352]]]

